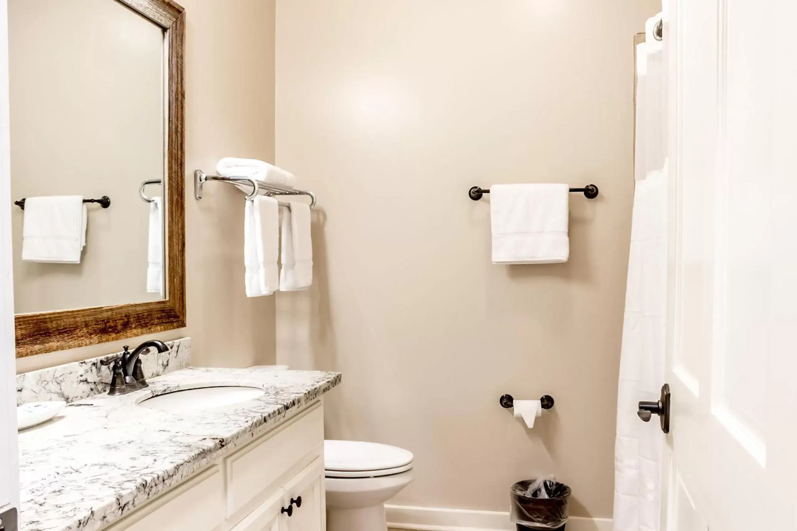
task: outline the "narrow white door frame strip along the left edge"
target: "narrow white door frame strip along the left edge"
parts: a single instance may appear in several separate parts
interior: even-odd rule
[[[7,22],[6,0],[0,0],[0,513],[19,506]]]

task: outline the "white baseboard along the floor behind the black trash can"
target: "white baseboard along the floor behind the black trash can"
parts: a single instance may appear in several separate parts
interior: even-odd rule
[[[445,509],[442,507],[385,506],[387,527],[415,531],[515,531],[509,513]],[[567,531],[612,531],[611,518],[570,517]]]

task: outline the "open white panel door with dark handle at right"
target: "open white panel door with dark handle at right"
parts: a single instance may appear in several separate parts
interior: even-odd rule
[[[797,529],[795,4],[665,6],[669,531]]]

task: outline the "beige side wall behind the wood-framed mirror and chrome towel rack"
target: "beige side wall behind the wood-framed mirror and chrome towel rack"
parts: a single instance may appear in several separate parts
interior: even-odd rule
[[[112,2],[112,0],[108,0]],[[273,0],[183,0],[186,8],[186,284],[188,326],[156,338],[193,338],[194,365],[274,361],[274,299],[247,299],[242,194],[210,183],[194,200],[193,171],[218,158],[274,157]],[[131,339],[21,358],[36,369],[111,352]]]

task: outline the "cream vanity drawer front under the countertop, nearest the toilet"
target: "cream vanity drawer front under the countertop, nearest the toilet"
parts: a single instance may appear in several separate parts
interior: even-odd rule
[[[226,515],[264,494],[283,474],[324,443],[324,409],[310,412],[257,439],[225,459]],[[266,493],[267,494],[267,493]]]

